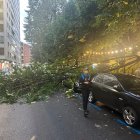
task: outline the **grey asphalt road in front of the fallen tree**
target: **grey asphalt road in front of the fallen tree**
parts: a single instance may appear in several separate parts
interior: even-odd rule
[[[81,101],[61,94],[32,105],[0,105],[0,112],[0,140],[140,140],[111,110],[91,106],[86,119]]]

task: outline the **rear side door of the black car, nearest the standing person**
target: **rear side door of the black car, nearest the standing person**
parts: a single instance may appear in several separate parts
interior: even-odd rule
[[[103,92],[104,92],[104,85],[103,85],[103,79],[104,75],[103,74],[98,74],[93,77],[92,80],[92,93],[93,96],[101,102],[104,102],[103,98]]]

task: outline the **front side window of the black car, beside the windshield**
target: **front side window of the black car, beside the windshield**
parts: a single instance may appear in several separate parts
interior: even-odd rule
[[[119,81],[117,80],[117,78],[111,74],[105,74],[104,75],[104,81],[103,81],[104,85],[107,86],[115,86],[115,85],[119,85]]]

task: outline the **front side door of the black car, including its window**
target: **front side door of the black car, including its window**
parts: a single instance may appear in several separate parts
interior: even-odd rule
[[[118,79],[111,74],[104,74],[104,103],[118,110],[123,104],[123,88]]]

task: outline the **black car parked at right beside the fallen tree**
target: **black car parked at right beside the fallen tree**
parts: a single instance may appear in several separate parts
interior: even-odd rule
[[[97,74],[93,77],[91,91],[92,99],[122,113],[128,125],[138,124],[140,120],[140,78],[125,74]]]

